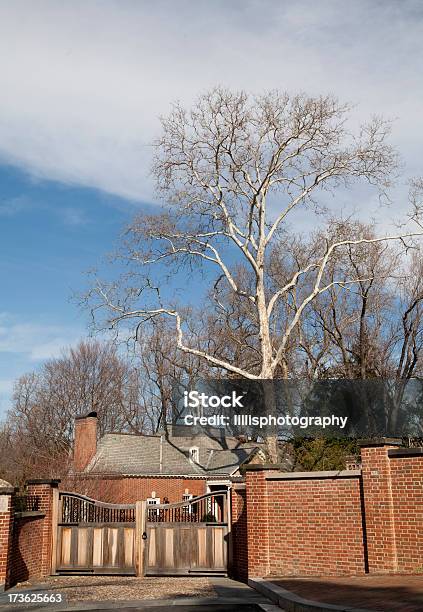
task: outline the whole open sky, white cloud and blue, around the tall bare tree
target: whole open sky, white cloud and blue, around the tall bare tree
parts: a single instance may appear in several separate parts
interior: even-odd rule
[[[422,65],[417,0],[0,0],[0,413],[17,376],[86,333],[72,291],[157,205],[150,143],[172,101],[220,83],[393,119],[398,216],[423,174]]]

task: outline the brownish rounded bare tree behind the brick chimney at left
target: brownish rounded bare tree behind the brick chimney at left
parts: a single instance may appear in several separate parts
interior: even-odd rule
[[[100,435],[149,431],[140,389],[138,370],[114,346],[93,341],[22,376],[4,424],[7,470],[20,481],[40,474],[63,476],[69,469],[74,419],[92,410],[98,413]]]

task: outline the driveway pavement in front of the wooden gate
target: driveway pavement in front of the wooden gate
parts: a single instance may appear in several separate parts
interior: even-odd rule
[[[10,595],[61,594],[62,604],[22,603]],[[195,612],[256,612],[278,610],[266,597],[229,578],[52,576],[42,583],[25,583],[0,595],[0,611],[45,610],[164,610]]]

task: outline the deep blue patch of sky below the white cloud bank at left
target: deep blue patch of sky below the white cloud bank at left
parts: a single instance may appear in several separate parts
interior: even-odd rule
[[[0,410],[13,379],[86,335],[71,299],[113,248],[133,203],[0,167]],[[139,208],[137,206],[136,208]],[[147,207],[145,207],[147,208]]]

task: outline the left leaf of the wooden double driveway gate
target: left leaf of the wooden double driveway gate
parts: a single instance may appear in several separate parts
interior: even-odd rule
[[[106,504],[60,491],[57,513],[58,573],[136,573],[135,504]]]

